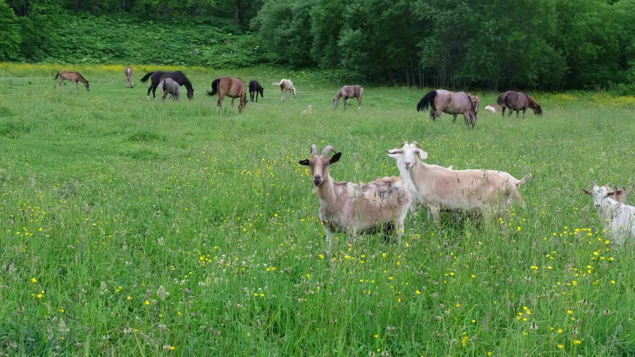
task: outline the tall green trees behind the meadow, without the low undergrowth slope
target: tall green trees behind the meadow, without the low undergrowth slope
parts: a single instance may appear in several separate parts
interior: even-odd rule
[[[257,37],[263,62],[349,80],[635,91],[635,0],[0,0],[0,59],[45,46],[42,27],[68,11],[173,26],[224,18]]]

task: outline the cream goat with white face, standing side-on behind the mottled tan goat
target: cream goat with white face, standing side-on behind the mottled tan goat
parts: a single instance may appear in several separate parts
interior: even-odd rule
[[[450,170],[443,166],[427,165],[419,158],[426,159],[417,142],[403,145],[388,154],[403,156],[403,163],[410,173],[420,205],[427,207],[434,215],[437,226],[441,225],[439,211],[464,211],[498,213],[504,215],[512,200],[523,202],[518,186],[530,176],[516,180],[509,173],[494,170]],[[513,179],[513,180],[512,180]]]

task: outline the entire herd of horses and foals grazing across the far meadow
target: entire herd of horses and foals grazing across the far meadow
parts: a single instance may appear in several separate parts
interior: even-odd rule
[[[124,69],[126,76],[126,87],[134,88],[133,71],[132,67],[126,66]],[[79,93],[78,83],[81,82],[86,87],[86,90],[90,90],[88,81],[79,72],[60,71],[55,76],[55,79],[60,78],[57,90],[63,88],[64,81],[71,81],[70,91],[72,93],[73,84],[77,93]],[[185,86],[187,90],[187,98],[192,100],[194,98],[194,88],[187,76],[181,71],[164,72],[154,71],[145,74],[142,77],[141,82],[146,83],[150,79],[150,86],[148,87],[147,99],[150,99],[150,91],[152,91],[152,97],[155,98],[157,88],[161,93],[161,98],[165,100],[166,96],[170,94],[171,99],[176,100],[180,97],[181,86]],[[280,100],[284,102],[286,100],[286,93],[290,92],[293,98],[296,98],[297,90],[293,86],[293,82],[290,79],[281,79],[277,83],[273,83],[274,86],[279,86],[282,96]],[[243,79],[232,78],[229,76],[219,77],[214,79],[211,83],[211,91],[207,91],[208,95],[218,95],[217,110],[220,110],[222,102],[225,97],[232,98],[232,108],[234,108],[234,100],[239,98],[240,103],[238,105],[238,112],[242,112],[247,105],[247,87],[245,86]],[[252,79],[249,82],[249,93],[251,102],[254,97],[258,102],[258,95],[264,97],[264,88],[258,83],[257,80]],[[337,109],[340,99],[344,98],[344,110],[346,110],[348,104],[346,102],[349,98],[356,98],[358,101],[358,111],[361,109],[361,99],[364,95],[364,88],[359,85],[355,86],[343,86],[337,91],[333,98],[333,110]],[[456,123],[457,116],[463,114],[465,124],[472,126],[476,125],[476,114],[478,114],[478,108],[480,105],[480,98],[478,95],[469,95],[464,91],[453,92],[443,89],[429,91],[417,104],[417,111],[423,111],[430,109],[430,118],[432,121],[436,121],[441,113],[452,114],[452,123]],[[310,106],[309,106],[310,107]],[[310,109],[305,111],[308,113]],[[523,112],[523,118],[525,118],[525,112],[527,109],[532,109],[533,113],[537,116],[542,116],[542,107],[533,98],[522,91],[506,91],[498,96],[497,104],[490,104],[485,108],[487,111],[496,112],[501,111],[502,115],[505,115],[505,109],[509,109],[509,116],[512,112],[516,111],[516,118],[518,118],[520,111]]]

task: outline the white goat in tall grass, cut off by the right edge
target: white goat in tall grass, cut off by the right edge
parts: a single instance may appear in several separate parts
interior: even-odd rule
[[[625,205],[613,199],[622,190],[612,191],[609,184],[599,187],[594,181],[592,191],[582,189],[585,194],[593,198],[599,219],[604,226],[610,241],[615,245],[623,245],[627,241],[632,243],[635,238],[635,207]],[[629,239],[630,236],[630,239]]]

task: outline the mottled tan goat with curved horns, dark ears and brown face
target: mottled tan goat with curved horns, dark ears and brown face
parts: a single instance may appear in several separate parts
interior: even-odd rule
[[[319,219],[326,231],[329,252],[335,232],[346,232],[355,241],[358,232],[394,228],[401,244],[403,221],[411,201],[403,181],[391,176],[359,185],[334,182],[328,166],[337,163],[342,153],[337,152],[328,158],[330,151],[335,150],[327,146],[318,155],[318,147],[311,145],[311,159],[300,161],[300,165],[311,167],[313,183],[318,189]]]

